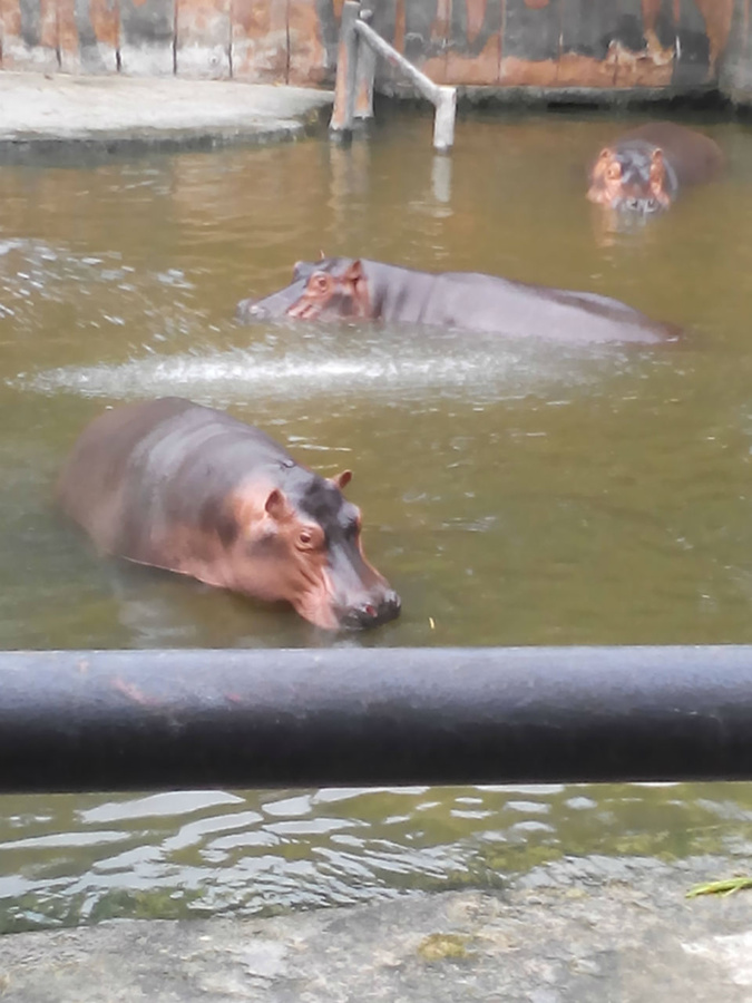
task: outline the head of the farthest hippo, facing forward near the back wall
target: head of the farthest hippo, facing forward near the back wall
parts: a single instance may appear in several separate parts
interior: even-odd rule
[[[671,178],[663,152],[650,144],[600,152],[590,171],[590,202],[643,214],[671,205]]]

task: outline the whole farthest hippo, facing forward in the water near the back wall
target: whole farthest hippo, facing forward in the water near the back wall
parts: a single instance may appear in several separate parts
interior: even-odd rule
[[[600,150],[589,168],[587,197],[613,210],[657,213],[681,188],[713,181],[723,166],[723,153],[710,136],[651,121]]]

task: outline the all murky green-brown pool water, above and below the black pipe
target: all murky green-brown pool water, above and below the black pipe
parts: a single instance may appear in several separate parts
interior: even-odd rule
[[[752,130],[709,127],[724,182],[615,233],[583,164],[618,128],[473,119],[434,159],[430,121],[404,117],[349,150],[0,166],[0,646],[752,642]],[[235,324],[237,300],[320,250],[588,289],[687,338]],[[292,613],[99,562],[50,507],[56,471],[105,405],[164,393],[226,406],[322,473],[352,468],[402,617],[328,642]],[[744,848],[752,818],[746,786],[0,806],[0,928]]]

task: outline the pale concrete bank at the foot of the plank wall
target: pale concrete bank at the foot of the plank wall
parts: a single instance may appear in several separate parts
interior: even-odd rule
[[[196,147],[290,139],[332,94],[224,80],[0,72],[0,146]]]

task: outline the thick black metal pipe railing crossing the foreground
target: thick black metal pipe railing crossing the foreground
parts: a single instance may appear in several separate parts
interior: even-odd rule
[[[0,790],[752,779],[752,646],[0,653]]]

